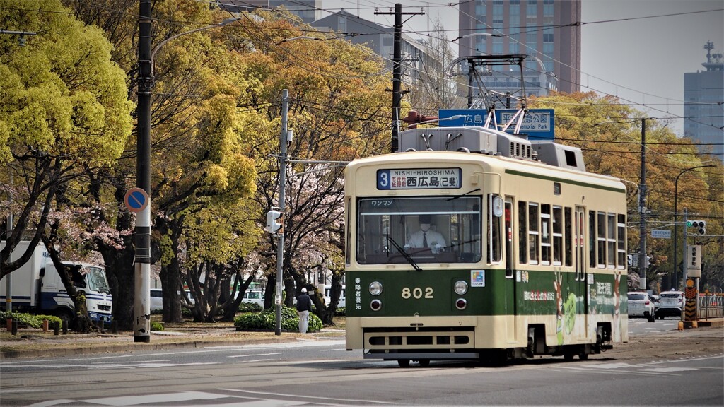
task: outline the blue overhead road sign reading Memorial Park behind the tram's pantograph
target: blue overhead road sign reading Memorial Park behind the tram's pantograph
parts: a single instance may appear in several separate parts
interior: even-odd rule
[[[517,109],[497,109],[495,119],[498,125],[508,123],[516,112],[518,112]],[[485,124],[487,114],[487,109],[440,109],[437,117],[439,117],[440,127],[482,126]],[[446,119],[457,115],[463,117]],[[527,134],[531,141],[555,140],[554,125],[553,109],[530,109],[523,117],[520,133]],[[514,130],[515,125],[510,125],[505,132],[513,133]]]

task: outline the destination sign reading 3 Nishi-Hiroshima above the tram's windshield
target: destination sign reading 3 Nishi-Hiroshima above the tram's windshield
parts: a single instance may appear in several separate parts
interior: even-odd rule
[[[460,168],[413,168],[378,169],[377,189],[449,189],[460,188],[463,169]]]

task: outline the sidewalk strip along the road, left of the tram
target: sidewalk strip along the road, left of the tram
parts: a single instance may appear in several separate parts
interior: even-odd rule
[[[232,325],[214,327],[174,327],[152,331],[148,343],[134,342],[133,332],[54,335],[33,328],[22,328],[17,335],[0,331],[0,360],[36,356],[87,355],[93,353],[135,352],[156,349],[202,348],[206,346],[255,345],[298,340],[342,339],[343,330],[321,330],[311,334],[284,332],[237,332]]]

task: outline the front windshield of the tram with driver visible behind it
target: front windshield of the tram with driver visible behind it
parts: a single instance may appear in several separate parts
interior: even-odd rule
[[[479,196],[360,198],[357,208],[359,264],[481,259]]]

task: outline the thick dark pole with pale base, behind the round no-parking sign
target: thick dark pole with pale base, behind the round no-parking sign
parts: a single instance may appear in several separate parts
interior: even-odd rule
[[[151,342],[151,0],[140,0],[138,12],[138,135],[136,186],[148,194],[146,208],[136,214],[133,342]]]

